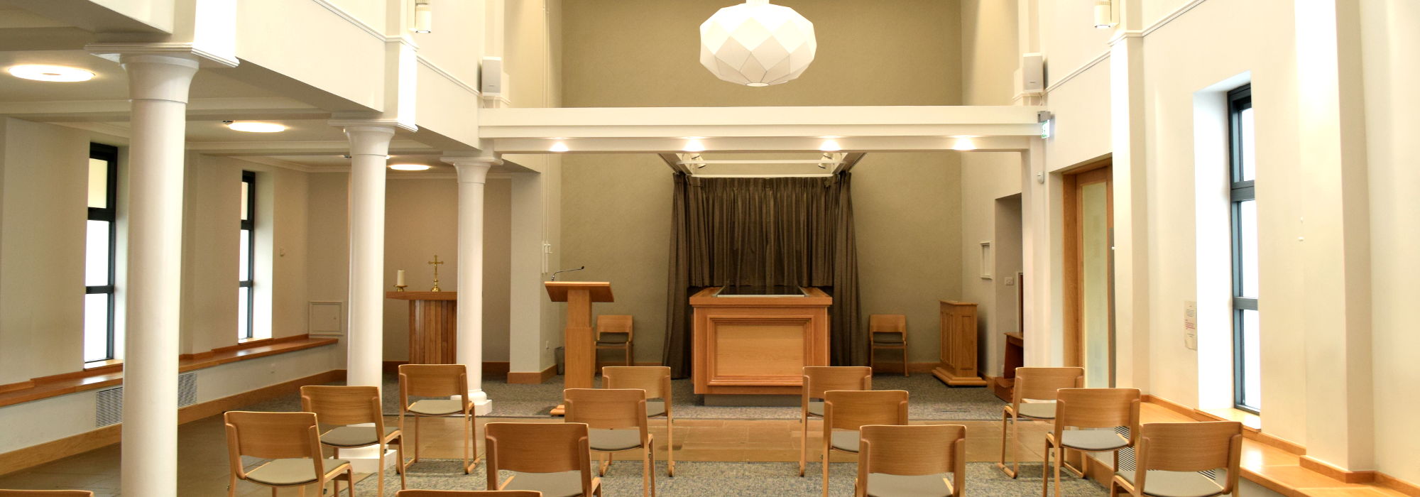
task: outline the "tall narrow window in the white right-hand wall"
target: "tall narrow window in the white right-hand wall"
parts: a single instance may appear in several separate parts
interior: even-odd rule
[[[1257,153],[1252,135],[1252,87],[1228,92],[1233,200],[1233,403],[1252,413],[1262,408],[1261,339],[1257,314]]]

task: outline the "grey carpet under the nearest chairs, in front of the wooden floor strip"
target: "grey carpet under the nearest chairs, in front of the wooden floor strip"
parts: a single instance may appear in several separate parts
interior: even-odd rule
[[[629,456],[635,457],[635,456]],[[856,463],[832,463],[831,496],[851,496]],[[480,462],[471,474],[463,474],[457,460],[427,460],[409,469],[409,488],[425,490],[484,490],[487,469]],[[594,470],[595,471],[595,470]],[[595,474],[595,473],[594,473]],[[676,477],[666,476],[665,462],[656,464],[657,496],[818,496],[822,491],[822,469],[809,463],[804,477],[798,477],[797,463],[700,463],[677,462]],[[385,476],[385,494],[399,490],[399,476]],[[604,494],[639,496],[640,462],[618,460],[602,477]],[[365,479],[356,494],[373,496],[376,481]],[[1021,477],[1011,480],[993,463],[967,464],[967,496],[1034,497],[1041,494],[1039,464],[1021,464]],[[1054,490],[1052,490],[1054,493]],[[1064,496],[1105,496],[1099,484],[1065,473],[1061,480]]]

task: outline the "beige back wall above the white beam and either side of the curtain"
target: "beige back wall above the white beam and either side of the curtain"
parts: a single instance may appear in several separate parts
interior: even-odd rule
[[[956,1],[778,4],[816,23],[818,58],[792,82],[748,88],[716,80],[696,55],[699,24],[723,1],[569,1],[564,105],[960,104]],[[586,153],[564,156],[564,175],[561,267],[612,281],[616,302],[595,312],[632,314],[636,361],[660,361],[670,169],[653,155]],[[960,298],[957,182],[954,153],[869,153],[853,169],[863,322],[907,314],[914,362],[937,361],[936,302]]]

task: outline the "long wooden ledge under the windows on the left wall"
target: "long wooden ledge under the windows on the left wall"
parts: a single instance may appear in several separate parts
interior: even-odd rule
[[[308,348],[334,345],[337,342],[339,341],[335,338],[311,338],[310,335],[247,341],[244,344],[222,346],[207,352],[183,354],[178,359],[178,372],[189,372],[237,361],[304,351]],[[27,382],[0,385],[0,408],[122,383],[122,361],[106,365],[85,365],[85,369],[82,371],[40,376]]]

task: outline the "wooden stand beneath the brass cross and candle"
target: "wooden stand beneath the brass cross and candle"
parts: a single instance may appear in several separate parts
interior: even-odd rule
[[[459,364],[459,293],[386,291],[409,301],[409,364]]]

